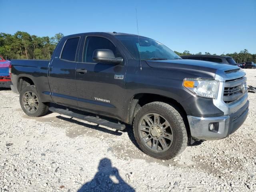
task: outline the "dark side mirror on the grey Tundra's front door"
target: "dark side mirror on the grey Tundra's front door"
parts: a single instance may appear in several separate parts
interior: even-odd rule
[[[116,58],[110,49],[96,49],[93,52],[92,60],[101,63],[120,64],[123,61],[123,58]]]

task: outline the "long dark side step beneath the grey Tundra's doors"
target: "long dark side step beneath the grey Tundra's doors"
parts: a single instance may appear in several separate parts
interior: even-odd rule
[[[104,119],[100,119],[94,116],[86,116],[86,115],[82,115],[82,114],[78,114],[78,113],[74,113],[72,111],[69,110],[64,110],[64,109],[60,109],[60,108],[55,108],[55,107],[50,107],[49,108],[50,111],[52,112],[56,112],[59,114],[63,114],[66,116],[70,116],[70,117],[74,117],[77,119],[81,119],[81,120],[85,120],[91,123],[96,123],[98,125],[103,125],[112,129],[116,129],[116,130],[124,130],[125,129],[125,125],[123,124],[117,124],[117,123],[113,123],[110,122],[108,120],[104,120]]]

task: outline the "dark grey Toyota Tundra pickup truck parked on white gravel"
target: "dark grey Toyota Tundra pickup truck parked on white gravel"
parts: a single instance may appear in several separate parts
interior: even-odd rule
[[[248,114],[239,67],[182,59],[132,34],[65,36],[51,60],[12,60],[11,79],[28,116],[50,110],[121,131],[132,124],[140,149],[159,159],[194,140],[226,138]]]

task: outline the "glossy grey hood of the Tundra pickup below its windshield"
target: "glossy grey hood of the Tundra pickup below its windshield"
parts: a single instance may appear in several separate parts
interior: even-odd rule
[[[147,60],[146,63],[152,68],[187,72],[201,78],[215,78],[217,70],[240,70],[238,66],[189,59]]]

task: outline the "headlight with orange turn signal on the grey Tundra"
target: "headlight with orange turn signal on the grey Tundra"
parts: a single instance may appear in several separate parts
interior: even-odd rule
[[[216,80],[184,79],[183,86],[197,96],[215,99],[219,83]]]

